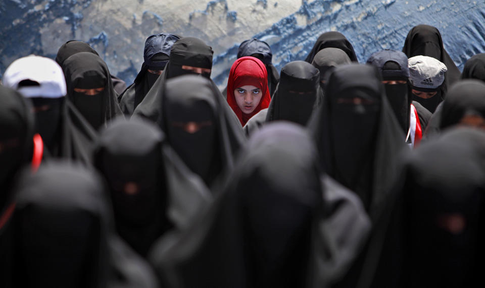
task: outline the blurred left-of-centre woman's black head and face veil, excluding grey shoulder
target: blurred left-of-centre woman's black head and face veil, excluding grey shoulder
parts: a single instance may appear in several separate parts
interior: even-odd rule
[[[117,231],[142,256],[172,225],[163,140],[152,125],[118,119],[101,132],[94,154],[108,182]]]

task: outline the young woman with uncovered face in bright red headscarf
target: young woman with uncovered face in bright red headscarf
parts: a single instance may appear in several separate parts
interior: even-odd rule
[[[244,126],[261,109],[268,108],[270,101],[264,64],[251,56],[237,59],[227,80],[227,103],[241,125]]]

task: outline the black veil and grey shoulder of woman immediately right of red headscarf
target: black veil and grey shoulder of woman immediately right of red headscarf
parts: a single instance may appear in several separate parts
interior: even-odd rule
[[[264,123],[284,120],[306,126],[314,109],[323,101],[318,69],[304,61],[293,61],[281,69],[281,79],[267,109],[259,111],[244,126],[249,137]]]

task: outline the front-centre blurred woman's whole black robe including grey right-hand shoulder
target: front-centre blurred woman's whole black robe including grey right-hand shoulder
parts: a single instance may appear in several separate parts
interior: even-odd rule
[[[345,271],[369,219],[321,177],[316,153],[295,124],[254,135],[210,209],[152,250],[164,286],[317,287]]]

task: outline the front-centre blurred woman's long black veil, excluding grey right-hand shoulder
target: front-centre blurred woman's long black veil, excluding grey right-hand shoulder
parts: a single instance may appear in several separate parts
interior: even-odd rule
[[[175,246],[153,250],[161,277],[184,287],[303,286],[322,208],[315,153],[294,124],[263,128],[210,210]]]

